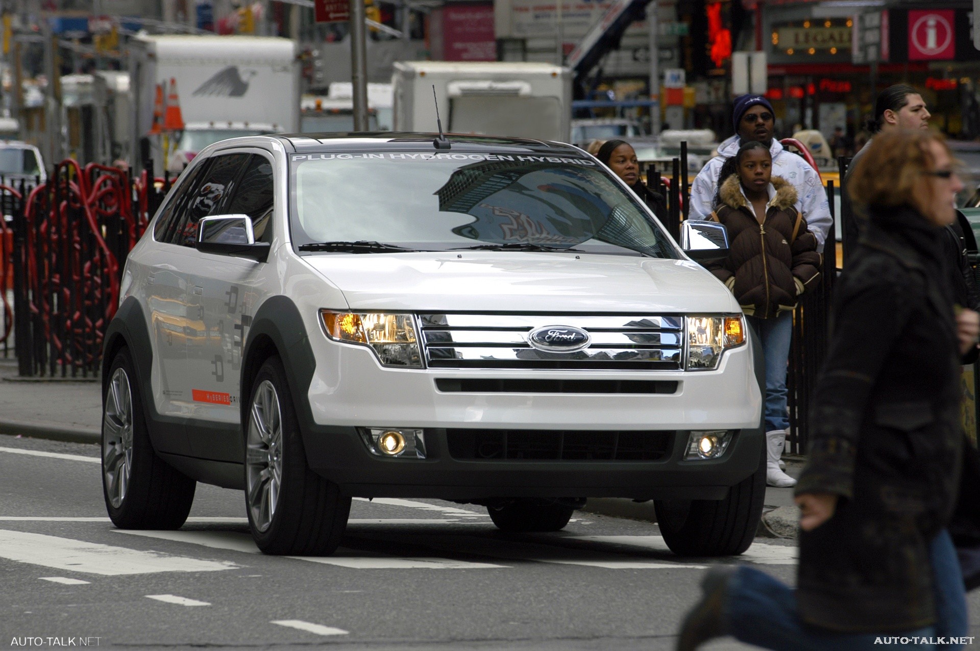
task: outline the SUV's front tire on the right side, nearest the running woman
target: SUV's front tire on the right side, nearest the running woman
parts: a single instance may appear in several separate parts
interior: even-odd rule
[[[663,541],[678,556],[734,556],[752,544],[765,499],[765,448],[759,468],[724,499],[654,500]]]

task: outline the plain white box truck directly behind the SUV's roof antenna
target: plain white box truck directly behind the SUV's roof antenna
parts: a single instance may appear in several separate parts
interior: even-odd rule
[[[568,142],[571,75],[530,62],[395,62],[395,131],[435,131],[435,99],[451,133]]]

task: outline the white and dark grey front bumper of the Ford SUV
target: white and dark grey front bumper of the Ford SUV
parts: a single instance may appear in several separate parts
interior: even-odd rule
[[[324,341],[305,396],[311,468],[364,497],[632,497],[721,499],[760,464],[761,394],[751,346],[729,350],[710,372],[402,370],[364,348]],[[436,379],[617,379],[678,383],[668,395],[444,393]],[[300,410],[301,413],[304,410]],[[425,459],[368,452],[358,427],[421,428]],[[447,429],[670,431],[657,461],[472,460],[450,454]],[[718,459],[685,461],[688,433],[737,430]]]

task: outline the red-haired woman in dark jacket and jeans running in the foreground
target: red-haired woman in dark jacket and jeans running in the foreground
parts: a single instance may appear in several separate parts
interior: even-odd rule
[[[965,635],[946,527],[964,442],[959,355],[980,318],[956,313],[945,282],[943,228],[962,188],[952,164],[924,131],[876,137],[858,163],[850,191],[870,219],[835,291],[812,398],[798,588],[746,567],[711,571],[679,649],[724,634],[771,649],[931,649]]]

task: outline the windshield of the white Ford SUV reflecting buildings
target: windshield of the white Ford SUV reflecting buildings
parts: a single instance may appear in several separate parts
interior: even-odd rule
[[[677,258],[592,160],[515,154],[297,154],[293,242],[505,247]]]

